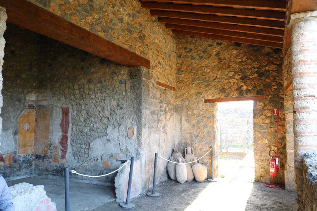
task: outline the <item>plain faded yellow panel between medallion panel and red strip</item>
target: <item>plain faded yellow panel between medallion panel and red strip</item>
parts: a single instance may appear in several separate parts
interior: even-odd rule
[[[49,118],[50,110],[38,110],[36,114],[35,154],[49,154]]]

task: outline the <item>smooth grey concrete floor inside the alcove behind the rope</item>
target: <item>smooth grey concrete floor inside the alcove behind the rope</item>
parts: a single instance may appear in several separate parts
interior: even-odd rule
[[[65,210],[64,178],[46,179],[28,177],[7,182],[8,186],[17,183],[31,183],[44,185],[46,195],[55,202],[57,211]],[[114,187],[94,185],[87,183],[69,182],[69,200],[71,210],[91,210],[100,205],[115,201]]]

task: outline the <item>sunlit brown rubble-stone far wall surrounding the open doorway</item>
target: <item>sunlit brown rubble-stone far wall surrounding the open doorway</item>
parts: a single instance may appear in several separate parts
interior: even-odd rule
[[[204,103],[205,98],[263,95],[265,99],[255,102],[253,108],[255,179],[271,180],[268,151],[276,150],[276,117],[272,112],[273,108],[279,108],[282,162],[276,181],[284,183],[286,139],[281,50],[178,36],[177,58],[177,103],[183,140],[180,148],[193,146],[198,156],[210,145],[218,150],[216,103]],[[209,161],[210,157],[206,159]],[[210,169],[210,163],[206,163]],[[217,160],[214,165],[217,167]]]

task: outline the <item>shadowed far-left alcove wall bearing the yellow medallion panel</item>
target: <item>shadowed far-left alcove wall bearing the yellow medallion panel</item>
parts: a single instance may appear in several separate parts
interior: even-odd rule
[[[40,52],[37,42],[40,37],[10,23],[4,33],[0,169],[7,179],[17,175],[28,177],[34,172],[36,97],[33,91],[38,88]],[[30,125],[28,131],[23,129],[25,123]]]

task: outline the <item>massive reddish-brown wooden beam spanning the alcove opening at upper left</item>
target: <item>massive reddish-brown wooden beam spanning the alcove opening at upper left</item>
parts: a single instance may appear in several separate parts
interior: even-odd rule
[[[127,67],[151,68],[150,60],[114,44],[27,0],[0,0],[8,22]]]

